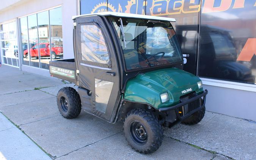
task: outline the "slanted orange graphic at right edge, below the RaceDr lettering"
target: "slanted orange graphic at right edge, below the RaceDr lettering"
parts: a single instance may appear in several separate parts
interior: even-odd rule
[[[251,61],[253,55],[256,55],[256,38],[248,38],[237,61]]]

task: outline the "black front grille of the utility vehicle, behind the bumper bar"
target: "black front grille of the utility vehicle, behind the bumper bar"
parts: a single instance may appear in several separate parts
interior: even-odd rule
[[[192,97],[196,97],[196,96],[198,96],[198,95],[195,92],[186,94],[186,95],[180,97],[180,102],[185,102],[188,99],[190,99]],[[200,104],[202,102],[203,102],[202,99],[199,98],[199,99],[196,99],[193,102],[190,102],[190,103],[188,103],[188,104],[186,104],[186,105],[184,105],[182,107],[179,107],[178,110],[179,110],[180,116],[185,116],[190,111],[193,111],[196,108],[200,107]]]

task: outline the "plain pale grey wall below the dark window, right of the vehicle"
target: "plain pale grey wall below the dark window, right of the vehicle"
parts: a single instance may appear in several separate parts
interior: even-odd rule
[[[256,92],[204,85],[206,110],[256,121]]]

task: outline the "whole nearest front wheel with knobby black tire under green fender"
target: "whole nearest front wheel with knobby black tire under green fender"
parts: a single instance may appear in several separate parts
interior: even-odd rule
[[[124,136],[132,148],[148,154],[156,151],[163,141],[163,129],[157,117],[144,109],[131,110],[124,121]]]

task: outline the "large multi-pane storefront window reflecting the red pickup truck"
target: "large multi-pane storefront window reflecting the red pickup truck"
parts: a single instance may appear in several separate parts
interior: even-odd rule
[[[50,60],[63,59],[61,7],[19,20],[22,64],[49,69]]]

